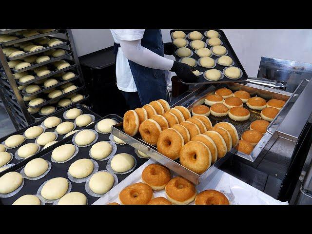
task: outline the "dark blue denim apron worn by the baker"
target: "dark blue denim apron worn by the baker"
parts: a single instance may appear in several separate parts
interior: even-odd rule
[[[164,45],[160,29],[146,29],[141,39],[141,45],[157,55],[164,57]],[[114,44],[117,55],[119,44]],[[142,106],[157,99],[166,98],[166,78],[163,70],[141,66],[129,61],[132,76],[137,86],[138,96]]]

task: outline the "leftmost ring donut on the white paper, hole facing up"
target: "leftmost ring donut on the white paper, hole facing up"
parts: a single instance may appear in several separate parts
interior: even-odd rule
[[[119,193],[123,205],[146,205],[152,198],[152,188],[144,183],[131,184]]]

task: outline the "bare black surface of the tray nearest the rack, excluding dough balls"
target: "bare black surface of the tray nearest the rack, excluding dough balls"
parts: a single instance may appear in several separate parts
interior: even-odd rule
[[[39,125],[41,124],[41,122],[43,122],[47,117],[56,116],[56,117],[61,118],[61,119],[62,119],[62,122],[65,122],[65,121],[74,122],[75,119],[65,119],[65,118],[63,117],[63,113],[64,113],[66,110],[69,110],[69,109],[72,109],[72,108],[79,108],[79,109],[81,109],[82,112],[83,112],[83,114],[91,114],[91,115],[94,115],[95,121],[97,121],[98,119],[101,118],[98,114],[94,113],[93,111],[89,110],[88,108],[85,108],[85,107],[82,106],[82,105],[75,104],[75,105],[67,106],[67,107],[62,108],[61,110],[59,110],[59,111],[57,111],[57,112],[52,113],[51,115],[43,116],[43,118],[42,118],[41,121],[39,121],[39,122],[33,123],[33,124],[31,124],[31,125],[29,125],[29,126],[23,128],[23,129],[20,129],[20,130],[17,131],[17,132],[14,132],[14,133],[12,133],[12,134],[10,134],[10,135],[7,135],[7,136],[5,136],[5,137],[0,138],[0,144],[1,144],[4,140],[6,140],[8,137],[10,137],[10,136],[17,135],[17,134],[18,134],[18,135],[23,135],[23,133],[24,133],[28,128],[33,127],[33,126],[39,126]],[[75,128],[74,130],[81,130],[81,129],[83,129],[83,128],[85,128],[85,127],[78,127],[78,126],[76,126],[76,128]],[[54,132],[55,129],[56,129],[56,128],[49,128],[49,129],[46,129],[45,132]],[[59,137],[56,139],[56,141],[62,140],[64,136],[65,136],[65,135],[59,135]],[[36,140],[36,138],[35,138],[35,139],[26,139],[20,146],[22,146],[22,145],[24,145],[24,144],[27,144],[27,143],[35,143],[35,140]],[[23,160],[23,159],[18,160],[18,159],[16,159],[16,158],[14,157],[15,152],[20,148],[20,146],[18,146],[18,147],[16,147],[16,148],[13,148],[13,149],[7,149],[7,152],[8,152],[8,153],[12,153],[12,154],[13,154],[13,159],[12,159],[11,162],[9,162],[9,164],[11,164],[11,163],[20,163],[20,162],[22,162],[22,161],[25,161],[26,159],[28,160],[28,158],[26,158],[26,159],[24,159],[24,160]],[[39,153],[41,152],[42,148],[43,148],[43,147],[40,147],[40,151],[39,151],[37,154],[39,154]],[[46,151],[46,150],[44,150],[44,151]],[[35,154],[34,156],[30,156],[29,158],[35,158],[37,154]],[[5,171],[6,171],[6,170],[5,170]],[[1,176],[1,173],[0,173],[0,176]]]

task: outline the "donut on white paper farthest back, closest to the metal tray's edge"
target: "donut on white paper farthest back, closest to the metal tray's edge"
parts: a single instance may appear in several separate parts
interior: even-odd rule
[[[163,190],[171,180],[170,170],[160,164],[152,163],[144,168],[142,182],[151,186],[155,191]]]

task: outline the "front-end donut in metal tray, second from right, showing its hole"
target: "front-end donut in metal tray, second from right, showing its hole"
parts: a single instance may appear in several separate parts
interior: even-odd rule
[[[183,145],[184,139],[181,134],[176,129],[168,128],[159,134],[157,151],[172,160],[176,160]]]

